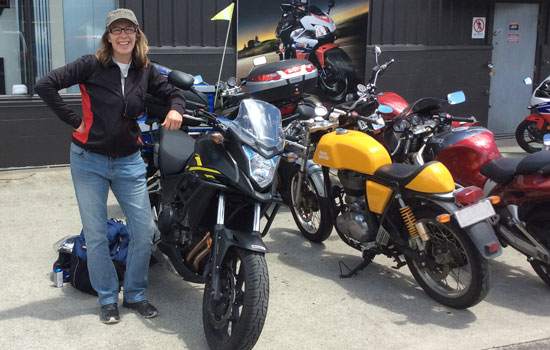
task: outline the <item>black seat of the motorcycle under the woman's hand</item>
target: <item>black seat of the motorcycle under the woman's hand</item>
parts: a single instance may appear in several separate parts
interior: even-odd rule
[[[195,139],[181,130],[159,130],[159,169],[166,174],[179,173],[195,150]]]

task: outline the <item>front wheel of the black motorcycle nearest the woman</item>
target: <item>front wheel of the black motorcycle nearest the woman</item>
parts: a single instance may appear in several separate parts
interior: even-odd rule
[[[264,326],[269,276],[261,253],[230,248],[220,266],[220,300],[211,276],[204,288],[202,319],[212,349],[252,349]]]

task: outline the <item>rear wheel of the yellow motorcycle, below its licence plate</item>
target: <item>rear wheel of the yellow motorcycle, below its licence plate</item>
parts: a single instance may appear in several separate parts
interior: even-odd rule
[[[454,223],[435,220],[436,208],[416,212],[417,221],[426,225],[430,239],[426,242],[428,259],[434,269],[423,267],[406,257],[409,269],[418,284],[433,299],[456,309],[479,303],[489,292],[491,271],[466,232]]]

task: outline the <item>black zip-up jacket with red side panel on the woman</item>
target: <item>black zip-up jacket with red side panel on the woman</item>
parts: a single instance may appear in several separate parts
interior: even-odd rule
[[[82,117],[63,101],[58,91],[79,84]],[[42,100],[65,123],[78,128],[84,118],[86,130],[73,132],[78,146],[108,157],[124,157],[138,151],[141,131],[137,119],[145,114],[147,93],[169,101],[170,109],[184,113],[185,98],[149,64],[139,69],[132,63],[122,93],[119,66],[103,67],[94,55],[86,55],[42,77],[35,87]]]

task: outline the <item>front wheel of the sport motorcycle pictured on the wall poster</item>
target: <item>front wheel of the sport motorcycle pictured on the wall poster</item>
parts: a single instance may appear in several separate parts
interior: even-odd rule
[[[353,66],[348,55],[341,49],[332,49],[328,52],[320,78],[321,88],[330,100],[343,100],[354,78]]]

